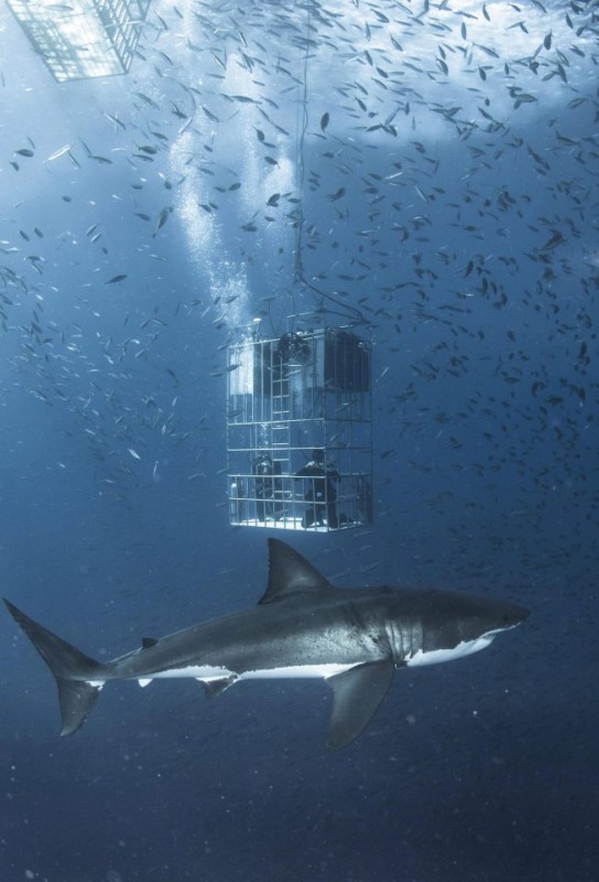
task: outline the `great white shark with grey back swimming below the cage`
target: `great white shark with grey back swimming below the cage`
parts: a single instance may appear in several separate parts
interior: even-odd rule
[[[87,719],[106,682],[190,677],[206,695],[236,682],[320,677],[333,687],[327,746],[363,732],[397,668],[478,653],[529,611],[504,600],[413,588],[335,588],[297,551],[269,539],[269,579],[258,606],[177,631],[106,664],[95,662],[4,600],[51,668],[62,735]]]

